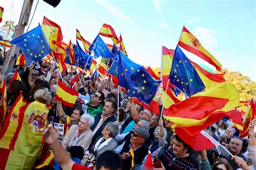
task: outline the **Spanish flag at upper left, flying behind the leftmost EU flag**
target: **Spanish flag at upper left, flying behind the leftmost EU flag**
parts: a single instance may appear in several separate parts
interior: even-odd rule
[[[55,22],[52,22],[50,19],[46,18],[45,16],[43,19],[42,30],[44,32],[46,39],[48,40],[48,43],[52,51],[55,50],[55,44],[59,46],[62,44],[63,36],[62,36],[62,30],[60,29],[60,26]],[[55,43],[53,44],[53,42]]]

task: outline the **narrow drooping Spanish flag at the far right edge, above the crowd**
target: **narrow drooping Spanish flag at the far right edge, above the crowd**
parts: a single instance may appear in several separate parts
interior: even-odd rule
[[[240,134],[240,138],[244,138],[249,134],[249,124],[251,120],[255,119],[255,117],[256,117],[255,103],[253,99],[251,99],[245,112],[244,121],[242,121],[242,123],[244,124],[244,130]]]

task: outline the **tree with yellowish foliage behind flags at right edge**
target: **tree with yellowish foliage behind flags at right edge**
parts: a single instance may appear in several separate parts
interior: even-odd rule
[[[227,69],[221,69],[221,73],[225,73],[225,80],[237,88],[240,100],[249,101],[256,97],[256,83],[248,76],[242,75],[239,71],[228,71]]]

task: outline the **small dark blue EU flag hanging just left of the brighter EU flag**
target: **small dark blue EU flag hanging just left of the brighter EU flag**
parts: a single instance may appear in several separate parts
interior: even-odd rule
[[[90,69],[90,66],[91,66],[91,62],[92,62],[92,56],[88,55],[86,52],[84,52],[82,50],[82,48],[80,47],[80,45],[78,44],[78,41],[77,41],[77,61],[78,61],[78,64],[79,64],[79,67],[81,67],[82,69],[84,69],[84,66],[86,64],[86,67],[85,69]]]

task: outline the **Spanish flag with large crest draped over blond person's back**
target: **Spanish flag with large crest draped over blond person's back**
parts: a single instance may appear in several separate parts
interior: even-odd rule
[[[46,105],[33,101],[23,106],[21,112],[24,118],[14,150],[0,149],[3,169],[32,169],[41,150],[49,112]]]

